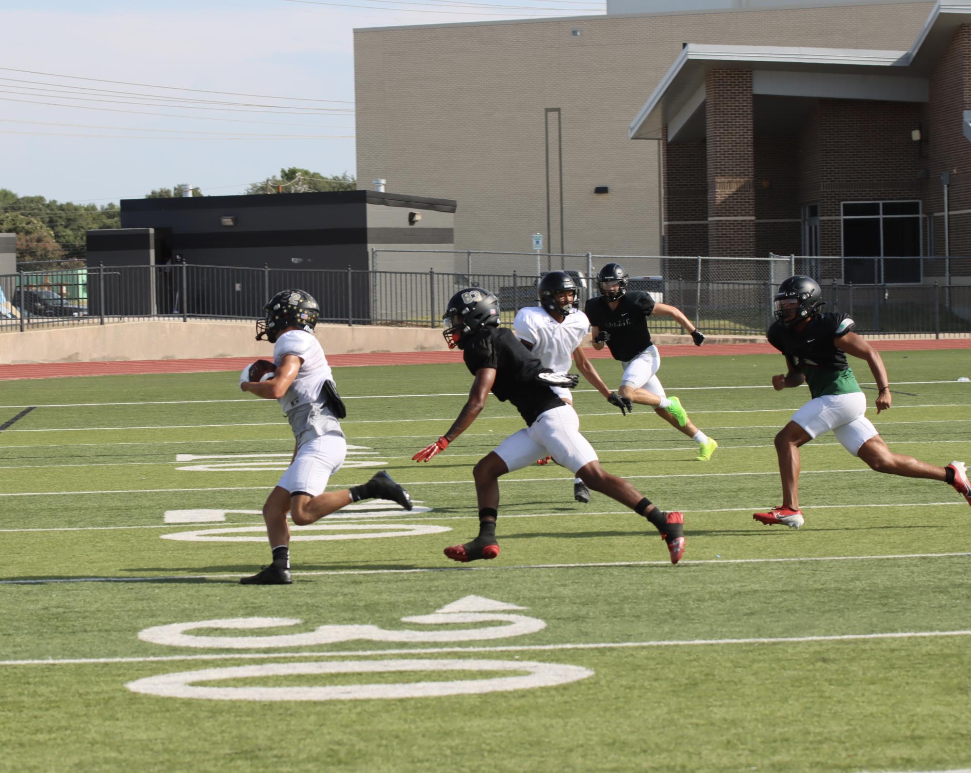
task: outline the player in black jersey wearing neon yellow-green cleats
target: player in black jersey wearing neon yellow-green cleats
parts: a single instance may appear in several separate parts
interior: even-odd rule
[[[695,459],[707,462],[719,444],[691,423],[678,398],[669,398],[664,393],[657,380],[661,356],[651,341],[648,317],[657,314],[672,317],[691,334],[695,346],[700,346],[705,336],[680,308],[655,304],[648,293],[628,292],[629,278],[619,263],[608,263],[597,274],[600,295],[586,302],[586,316],[593,326],[593,348],[602,349],[606,344],[614,359],[623,365],[619,396],[652,405],[654,413],[698,444]]]

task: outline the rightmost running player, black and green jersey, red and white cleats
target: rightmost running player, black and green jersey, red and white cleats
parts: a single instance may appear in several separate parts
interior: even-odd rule
[[[872,469],[909,478],[930,478],[954,486],[971,504],[971,483],[963,462],[935,467],[887,448],[866,413],[863,394],[847,354],[865,360],[877,382],[877,413],[890,407],[887,370],[880,354],[854,331],[848,314],[822,312],[820,285],[809,276],[789,276],[775,296],[776,321],[766,334],[769,343],[786,357],[787,372],[772,376],[777,390],[809,385],[812,400],[792,414],[776,435],[776,453],[783,483],[783,503],[769,512],[755,513],[763,524],[798,529],[805,523],[799,509],[799,446],[832,431],[840,444]]]

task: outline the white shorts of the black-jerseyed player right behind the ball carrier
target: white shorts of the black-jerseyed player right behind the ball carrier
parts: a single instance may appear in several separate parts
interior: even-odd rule
[[[543,411],[532,427],[524,427],[509,435],[495,449],[509,471],[536,464],[548,454],[560,467],[573,474],[590,462],[597,461],[597,452],[589,440],[580,434],[580,417],[572,405],[562,405]]]

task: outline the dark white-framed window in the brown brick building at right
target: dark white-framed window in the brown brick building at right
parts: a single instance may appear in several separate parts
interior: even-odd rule
[[[843,203],[843,280],[921,281],[921,202]]]

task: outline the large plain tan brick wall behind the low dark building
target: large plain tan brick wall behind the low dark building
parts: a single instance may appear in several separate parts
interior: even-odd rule
[[[659,148],[628,140],[627,128],[683,42],[903,50],[931,7],[358,30],[357,176],[456,199],[459,249],[528,251],[546,231],[544,110],[560,108],[566,249],[656,253]]]

